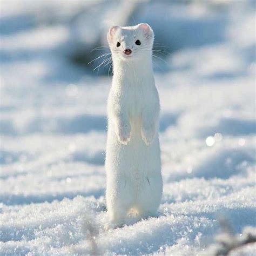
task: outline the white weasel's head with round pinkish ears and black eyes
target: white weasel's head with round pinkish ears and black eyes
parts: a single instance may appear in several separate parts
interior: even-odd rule
[[[123,60],[143,59],[152,55],[154,32],[150,25],[112,26],[107,41],[113,57]]]

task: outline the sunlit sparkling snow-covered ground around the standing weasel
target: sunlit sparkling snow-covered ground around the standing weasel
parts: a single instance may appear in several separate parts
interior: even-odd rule
[[[25,10],[2,1],[1,255],[208,255],[220,216],[236,233],[256,226],[255,5],[238,2],[165,2],[155,4],[154,16],[152,8],[144,11],[153,28],[164,20],[166,40],[176,43],[166,64],[156,62],[164,69],[156,72],[160,217],[105,232],[111,76],[90,76],[62,54],[70,42],[65,21],[83,2],[66,2],[59,23],[40,25],[33,9],[39,2]],[[45,3],[51,10],[58,4]],[[255,250],[244,248],[245,255]]]

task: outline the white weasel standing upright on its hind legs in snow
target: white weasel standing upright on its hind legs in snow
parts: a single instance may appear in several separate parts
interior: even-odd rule
[[[141,218],[157,215],[163,191],[153,30],[148,24],[113,26],[107,40],[113,80],[107,101],[106,230],[125,224],[131,209]]]

